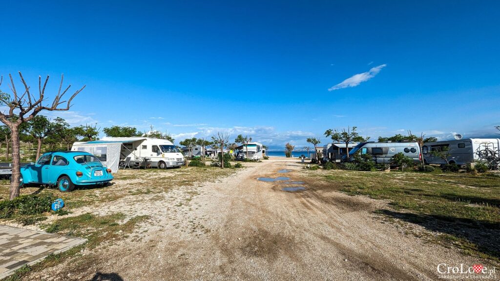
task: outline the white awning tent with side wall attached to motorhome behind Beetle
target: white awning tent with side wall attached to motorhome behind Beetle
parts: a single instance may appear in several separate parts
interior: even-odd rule
[[[78,141],[73,143],[72,151],[85,151],[94,154],[103,165],[110,168],[112,172],[118,170],[120,161],[121,145],[124,142],[133,142],[135,140],[92,140],[92,141]]]

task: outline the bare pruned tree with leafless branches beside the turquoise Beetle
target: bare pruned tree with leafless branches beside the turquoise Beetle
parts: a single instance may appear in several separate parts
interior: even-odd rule
[[[36,116],[38,112],[42,110],[48,111],[56,111],[56,110],[69,110],[71,106],[71,100],[85,87],[81,87],[79,90],[75,91],[67,100],[62,100],[61,98],[64,96],[66,91],[69,89],[71,85],[68,85],[65,89],[62,89],[62,82],[64,80],[64,75],[61,75],[61,81],[59,84],[59,90],[52,100],[52,104],[49,106],[43,105],[43,102],[46,100],[45,98],[45,87],[48,82],[48,75],[45,78],[45,81],[42,85],[41,76],[38,76],[38,97],[35,98],[29,90],[30,87],[27,85],[26,81],[22,77],[21,72],[19,71],[19,77],[21,79],[22,85],[24,86],[23,93],[19,95],[14,85],[14,80],[11,74],[8,74],[10,78],[10,90],[12,91],[13,96],[8,93],[4,93],[0,91],[0,104],[7,106],[8,112],[4,110],[0,112],[0,121],[4,123],[10,129],[11,141],[12,141],[12,180],[10,182],[10,190],[9,190],[9,198],[12,200],[13,198],[19,196],[19,187],[20,187],[20,172],[19,172],[19,162],[20,162],[20,154],[19,154],[19,126]],[[3,81],[3,76],[0,76],[0,85]],[[62,91],[61,91],[62,90]],[[61,107],[59,107],[62,104]]]

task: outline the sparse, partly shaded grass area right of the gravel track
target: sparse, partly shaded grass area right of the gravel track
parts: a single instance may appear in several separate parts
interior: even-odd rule
[[[491,173],[309,172],[349,195],[388,200],[386,217],[439,233],[431,240],[500,263],[500,177]]]

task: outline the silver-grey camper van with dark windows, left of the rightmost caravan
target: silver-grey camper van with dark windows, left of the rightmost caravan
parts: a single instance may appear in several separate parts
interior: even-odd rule
[[[371,154],[376,163],[390,163],[392,156],[396,153],[403,153],[405,156],[413,159],[413,162],[419,163],[422,160],[420,146],[418,142],[398,141],[398,142],[361,142],[354,146],[347,155],[342,157],[342,161],[352,161],[355,153]]]

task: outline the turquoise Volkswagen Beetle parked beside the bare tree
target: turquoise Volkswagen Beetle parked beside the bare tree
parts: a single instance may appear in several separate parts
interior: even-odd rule
[[[62,192],[73,190],[75,185],[104,184],[113,179],[111,169],[83,151],[46,152],[36,163],[25,165],[20,171],[21,185],[55,185]]]

